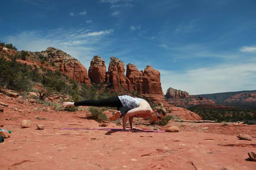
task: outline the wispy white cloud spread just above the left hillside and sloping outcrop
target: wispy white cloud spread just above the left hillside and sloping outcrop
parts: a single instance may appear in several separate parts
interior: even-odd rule
[[[111,41],[107,35],[114,30],[91,31],[88,29],[58,28],[48,32],[23,31],[14,35],[1,37],[6,43],[27,51],[44,51],[48,47],[58,48],[78,59],[87,69],[90,61],[99,51],[104,51]],[[99,46],[99,44],[101,44]]]

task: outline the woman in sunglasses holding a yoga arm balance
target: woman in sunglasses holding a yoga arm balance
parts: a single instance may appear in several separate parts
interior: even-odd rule
[[[123,130],[129,131],[126,128],[126,122],[129,118],[131,129],[139,129],[133,127],[133,118],[151,118],[151,121],[162,119],[166,110],[162,104],[152,109],[148,102],[144,99],[133,98],[128,95],[111,97],[102,100],[83,100],[78,102],[63,102],[63,107],[69,106],[97,106],[97,107],[117,107],[117,110],[110,120],[116,120],[123,117]]]

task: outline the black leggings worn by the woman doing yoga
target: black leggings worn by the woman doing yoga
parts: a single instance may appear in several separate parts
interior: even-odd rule
[[[121,112],[121,117],[126,114],[130,109],[123,107],[120,99],[118,97],[111,97],[101,100],[83,100],[74,102],[75,106],[97,106],[97,107],[116,107],[118,111]]]

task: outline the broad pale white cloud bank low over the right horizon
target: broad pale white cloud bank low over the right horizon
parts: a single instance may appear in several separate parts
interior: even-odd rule
[[[158,71],[164,93],[169,87],[187,91],[191,95],[256,90],[256,62],[221,64],[185,73]]]

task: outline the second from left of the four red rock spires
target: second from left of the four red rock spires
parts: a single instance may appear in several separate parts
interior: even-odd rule
[[[119,90],[120,87],[129,90],[127,85],[127,78],[124,76],[123,61],[111,57],[108,72],[106,73],[106,81],[112,84],[114,90]],[[128,81],[129,82],[129,81]]]

